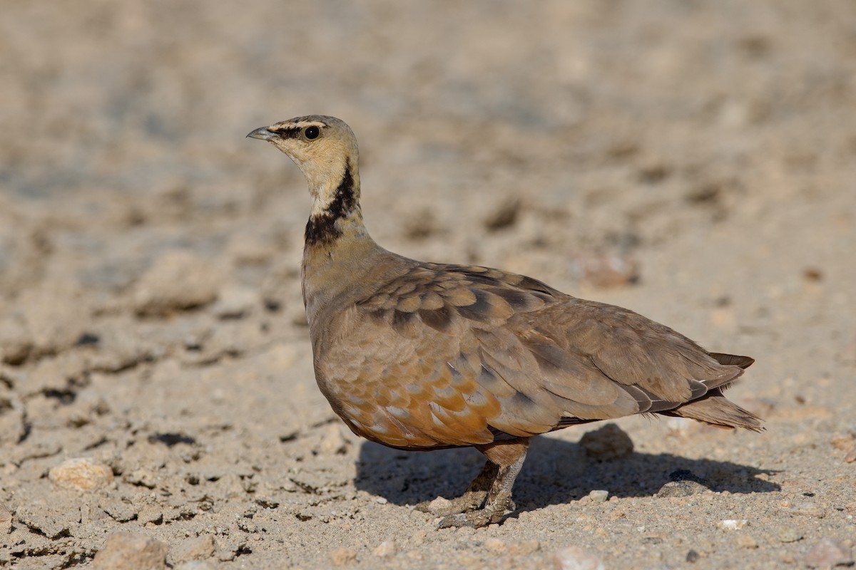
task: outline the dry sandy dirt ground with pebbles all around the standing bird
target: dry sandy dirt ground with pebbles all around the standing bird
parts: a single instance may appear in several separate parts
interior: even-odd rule
[[[852,0],[29,0],[0,70],[0,567],[123,531],[197,570],[853,560]],[[244,138],[309,113],[354,127],[381,244],[754,356],[729,395],[767,431],[628,418],[611,461],[557,432],[502,525],[435,530],[412,505],[479,454],[367,444],[315,386],[306,186]]]

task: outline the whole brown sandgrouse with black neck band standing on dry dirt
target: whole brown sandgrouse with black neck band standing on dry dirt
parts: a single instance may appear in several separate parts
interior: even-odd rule
[[[247,134],[306,177],[301,287],[318,388],[358,436],[398,450],[473,447],[484,467],[438,527],[514,512],[530,439],[633,414],[762,431],[723,396],[754,361],[668,326],[491,267],[383,249],[360,208],[359,150],[342,120],[307,115]],[[425,503],[423,503],[424,506]]]

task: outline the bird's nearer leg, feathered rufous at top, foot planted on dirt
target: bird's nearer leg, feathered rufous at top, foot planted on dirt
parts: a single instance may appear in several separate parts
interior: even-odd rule
[[[514,479],[517,479],[517,474],[520,473],[520,467],[523,467],[523,461],[526,461],[529,438],[477,445],[476,449],[484,453],[488,461],[497,467],[496,478],[490,485],[484,507],[469,513],[450,514],[443,517],[438,528],[487,526],[502,520],[506,510],[515,508],[514,501],[511,500],[511,489],[514,487]],[[485,467],[482,472],[486,470]]]

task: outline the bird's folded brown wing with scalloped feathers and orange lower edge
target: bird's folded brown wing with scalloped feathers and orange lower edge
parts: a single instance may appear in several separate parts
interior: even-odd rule
[[[319,384],[405,448],[675,408],[740,374],[632,311],[486,267],[420,264],[331,323]]]

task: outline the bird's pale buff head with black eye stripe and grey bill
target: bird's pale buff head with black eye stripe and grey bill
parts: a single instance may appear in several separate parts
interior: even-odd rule
[[[359,176],[357,139],[344,121],[336,117],[309,115],[283,120],[250,132],[276,146],[300,167],[313,197],[322,197],[348,173]]]

